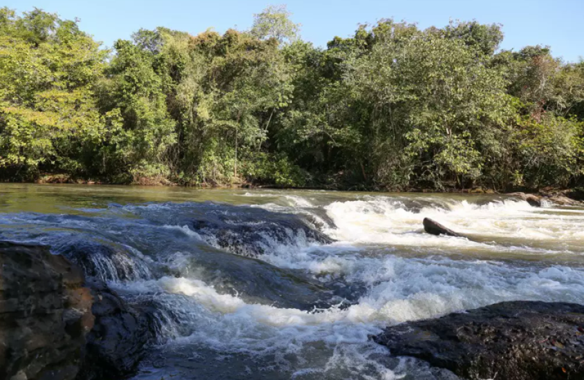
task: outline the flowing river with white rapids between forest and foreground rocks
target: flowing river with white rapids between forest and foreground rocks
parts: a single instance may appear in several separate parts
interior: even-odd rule
[[[424,234],[424,217],[471,240]],[[369,336],[584,303],[584,209],[503,196],[0,184],[0,240],[50,245],[151,307],[135,380],[456,379]]]

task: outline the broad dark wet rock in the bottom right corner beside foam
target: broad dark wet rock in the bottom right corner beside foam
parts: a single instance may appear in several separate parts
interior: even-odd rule
[[[504,302],[388,327],[374,341],[465,379],[584,379],[584,306]]]

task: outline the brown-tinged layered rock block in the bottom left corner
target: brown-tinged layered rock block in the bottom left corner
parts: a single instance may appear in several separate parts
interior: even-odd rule
[[[0,273],[0,379],[75,379],[93,327],[82,271],[48,247],[0,242]]]

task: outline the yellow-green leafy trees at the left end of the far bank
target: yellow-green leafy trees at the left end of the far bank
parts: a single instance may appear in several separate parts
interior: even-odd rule
[[[0,10],[0,167],[83,171],[100,134],[93,84],[106,52],[73,21],[40,10]]]

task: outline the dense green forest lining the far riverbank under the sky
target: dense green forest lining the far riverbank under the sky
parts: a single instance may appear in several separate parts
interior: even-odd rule
[[[138,30],[108,50],[76,21],[3,8],[0,179],[576,186],[584,62],[502,39],[497,24],[382,19],[317,48],[270,6],[249,30]]]

